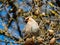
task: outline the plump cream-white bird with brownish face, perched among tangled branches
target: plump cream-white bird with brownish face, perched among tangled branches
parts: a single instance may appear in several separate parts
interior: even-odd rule
[[[25,20],[27,22],[23,29],[23,33],[25,34],[25,36],[29,34],[32,36],[38,36],[39,35],[38,23],[32,18],[32,16],[26,17]]]

